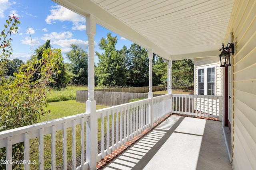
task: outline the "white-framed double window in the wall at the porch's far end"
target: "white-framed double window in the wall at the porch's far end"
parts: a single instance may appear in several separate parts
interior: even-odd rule
[[[215,68],[211,67],[211,68],[198,69],[198,94],[214,95],[215,94],[214,88],[215,88]]]

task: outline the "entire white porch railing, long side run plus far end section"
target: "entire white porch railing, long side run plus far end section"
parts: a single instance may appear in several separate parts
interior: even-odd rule
[[[151,108],[150,108],[151,107]],[[150,110],[152,113],[150,113]],[[146,128],[152,126],[168,113],[181,113],[204,117],[215,117],[221,119],[222,96],[199,96],[183,94],[166,94],[152,99],[140,100],[118,106],[108,107],[96,111],[96,117],[101,119],[100,139],[101,148],[98,153],[98,160],[138,135]],[[85,162],[85,122],[89,114],[64,117],[37,123],[30,126],[11,129],[0,132],[0,148],[6,148],[6,160],[12,160],[12,146],[24,142],[24,160],[30,161],[30,139],[38,138],[38,161],[39,169],[44,169],[44,137],[51,134],[51,164],[52,169],[56,168],[56,132],[62,131],[62,162],[63,169],[67,167],[67,148],[72,148],[72,168],[87,169],[88,162]],[[98,123],[98,122],[97,122]],[[80,125],[80,166],[76,167],[76,127]],[[72,130],[68,130],[71,128]],[[67,145],[67,136],[72,137],[72,144]],[[95,134],[96,135],[96,134]],[[70,139],[71,140],[71,139]],[[98,141],[95,141],[96,143]],[[87,144],[86,145],[90,145]],[[98,150],[95,150],[97,152]],[[24,164],[24,169],[29,169],[30,164]],[[12,169],[12,164],[6,164],[6,169]]]

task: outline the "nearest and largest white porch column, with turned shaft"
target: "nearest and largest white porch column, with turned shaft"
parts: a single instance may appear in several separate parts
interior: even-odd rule
[[[95,170],[98,155],[98,121],[96,118],[96,101],[94,100],[94,35],[96,35],[96,18],[86,16],[86,34],[88,35],[88,100],[86,112],[90,113],[86,122],[86,162],[88,169]]]

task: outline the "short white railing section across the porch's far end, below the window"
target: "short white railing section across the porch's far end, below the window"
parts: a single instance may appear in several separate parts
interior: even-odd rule
[[[222,121],[222,96],[172,94],[172,113]]]

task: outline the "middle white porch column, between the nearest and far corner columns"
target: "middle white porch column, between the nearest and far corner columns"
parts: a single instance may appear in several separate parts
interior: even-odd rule
[[[150,106],[149,106],[149,120],[150,120],[150,129],[153,127],[153,115],[154,115],[154,108],[153,108],[153,92],[152,92],[152,84],[153,84],[153,72],[152,72],[152,59],[153,59],[153,50],[148,49],[148,98],[151,99]]]

